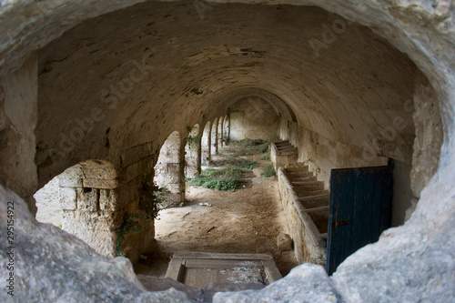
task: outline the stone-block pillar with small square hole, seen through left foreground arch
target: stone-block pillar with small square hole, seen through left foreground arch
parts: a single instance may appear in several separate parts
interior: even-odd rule
[[[62,229],[84,240],[98,254],[116,256],[116,229],[127,203],[119,198],[113,169],[79,164],[58,176]]]

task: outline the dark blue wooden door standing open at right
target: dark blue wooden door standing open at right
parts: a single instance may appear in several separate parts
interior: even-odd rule
[[[333,169],[330,177],[326,270],[360,247],[377,242],[390,227],[393,167]]]

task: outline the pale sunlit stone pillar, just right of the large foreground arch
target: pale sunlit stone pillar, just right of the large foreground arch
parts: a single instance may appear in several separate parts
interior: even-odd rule
[[[180,142],[178,132],[172,133],[159,152],[155,166],[155,183],[158,187],[166,187],[170,203],[185,200],[185,143]]]

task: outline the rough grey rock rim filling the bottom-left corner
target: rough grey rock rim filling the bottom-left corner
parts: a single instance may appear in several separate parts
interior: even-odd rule
[[[126,258],[106,258],[75,236],[41,224],[25,203],[0,186],[0,243],[6,248],[7,201],[15,202],[15,296],[0,292],[2,302],[190,302],[171,288],[145,292]],[[0,255],[0,276],[8,277],[10,262]],[[4,282],[2,282],[4,284]],[[2,288],[3,285],[2,285]]]

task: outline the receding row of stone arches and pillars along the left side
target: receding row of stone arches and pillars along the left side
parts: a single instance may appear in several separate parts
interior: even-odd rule
[[[207,121],[203,129],[199,125],[188,127],[186,137],[177,131],[171,133],[150,174],[126,186],[119,184],[118,172],[107,161],[88,160],[67,168],[58,176],[62,228],[102,255],[125,255],[135,261],[141,251],[150,248],[147,243],[155,236],[153,220],[131,218],[131,214],[140,213],[140,203],[149,194],[141,190],[143,184],[153,177],[158,187],[166,187],[170,192],[168,202],[183,202],[185,178],[197,177],[202,163],[210,161],[218,148],[227,144],[229,128],[228,116],[220,116]],[[127,230],[132,220],[138,222],[137,228],[141,230],[138,236]],[[125,228],[126,234],[122,234]]]

